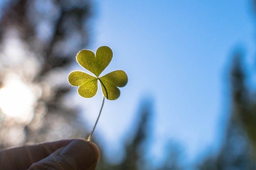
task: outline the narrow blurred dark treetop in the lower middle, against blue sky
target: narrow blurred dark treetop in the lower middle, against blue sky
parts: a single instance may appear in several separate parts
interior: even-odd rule
[[[135,128],[134,137],[127,139],[125,146],[125,156],[122,162],[116,165],[108,163],[103,157],[98,163],[97,169],[105,170],[136,170],[145,169],[147,161],[145,160],[145,146],[149,133],[149,118],[152,116],[152,103],[148,100],[142,102],[138,112],[139,118],[137,128]]]

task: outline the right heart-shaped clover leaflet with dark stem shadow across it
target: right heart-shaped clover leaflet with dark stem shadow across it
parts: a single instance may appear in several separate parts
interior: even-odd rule
[[[116,100],[120,96],[117,87],[124,87],[128,82],[127,74],[123,70],[116,70],[99,78],[104,96],[108,100]]]

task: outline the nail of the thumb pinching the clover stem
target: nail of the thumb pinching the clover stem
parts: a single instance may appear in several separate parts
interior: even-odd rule
[[[74,159],[78,169],[95,169],[98,153],[87,141],[78,139],[70,142],[59,153],[61,157]]]

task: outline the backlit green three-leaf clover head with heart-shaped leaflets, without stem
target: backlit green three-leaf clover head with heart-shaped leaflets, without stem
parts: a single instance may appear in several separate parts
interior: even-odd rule
[[[112,57],[113,52],[108,46],[98,48],[96,55],[88,49],[79,51],[76,55],[77,62],[96,77],[83,71],[72,71],[68,76],[69,83],[73,86],[79,86],[78,93],[82,97],[91,98],[98,91],[99,80],[104,96],[108,100],[116,100],[120,96],[118,87],[124,87],[128,82],[127,74],[123,70],[116,70],[99,77]]]

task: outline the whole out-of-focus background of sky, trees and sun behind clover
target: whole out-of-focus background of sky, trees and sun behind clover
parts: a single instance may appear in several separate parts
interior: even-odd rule
[[[0,148],[87,138],[101,89],[84,99],[67,77],[108,45],[103,74],[129,80],[93,134],[98,169],[256,169],[255,4],[1,1]]]

